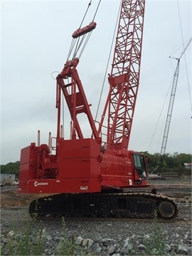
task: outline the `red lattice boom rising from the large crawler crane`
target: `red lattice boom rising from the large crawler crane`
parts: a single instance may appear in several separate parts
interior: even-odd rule
[[[100,129],[108,107],[107,146],[127,149],[139,87],[144,26],[144,0],[123,0],[114,47],[110,90]]]

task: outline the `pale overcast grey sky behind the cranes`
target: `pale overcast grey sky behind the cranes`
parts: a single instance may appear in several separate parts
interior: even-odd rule
[[[63,69],[71,35],[90,1],[1,1],[1,159],[19,161],[23,147],[56,135],[55,76]],[[92,1],[85,22],[92,21]],[[97,28],[80,58],[78,73],[95,117],[119,10],[102,0]],[[192,36],[191,0],[146,0],[139,92],[129,149],[160,153],[177,60]],[[166,153],[191,154],[192,43],[180,61]],[[174,58],[169,58],[169,56]],[[112,63],[112,60],[111,60]],[[111,66],[108,67],[110,73]],[[53,73],[53,72],[57,73]],[[100,115],[105,105],[105,82]],[[65,110],[66,113],[68,110]],[[66,114],[67,117],[67,114]],[[68,118],[68,117],[67,117]],[[100,120],[100,116],[97,117]],[[69,120],[65,122],[68,139]],[[86,126],[84,127],[86,129]]]

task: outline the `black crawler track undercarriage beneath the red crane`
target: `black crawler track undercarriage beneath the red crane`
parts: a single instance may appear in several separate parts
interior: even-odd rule
[[[174,219],[178,208],[172,198],[146,192],[55,194],[34,200],[35,218],[158,218]]]

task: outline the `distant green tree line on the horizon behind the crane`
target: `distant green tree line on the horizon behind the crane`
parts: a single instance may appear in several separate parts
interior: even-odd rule
[[[154,171],[159,164],[160,154],[149,154],[149,152],[144,151],[140,152],[146,155],[149,159],[148,161],[148,169],[149,173]],[[177,152],[174,154],[165,154],[163,159],[163,166],[161,166],[161,172],[176,172],[178,174],[188,174],[191,173],[190,169],[186,169],[184,163],[191,163],[192,154],[178,154]],[[16,174],[16,178],[18,178],[19,173],[19,164],[20,161],[16,161],[14,163],[9,163],[5,165],[1,165],[1,174]],[[158,172],[158,169],[157,169]]]

